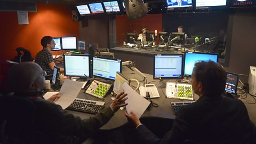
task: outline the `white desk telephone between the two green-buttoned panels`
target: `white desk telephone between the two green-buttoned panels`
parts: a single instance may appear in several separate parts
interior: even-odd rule
[[[140,95],[142,97],[146,97],[146,92],[149,93],[150,98],[159,98],[160,97],[155,84],[146,84],[145,87],[140,86],[139,90],[140,90]]]

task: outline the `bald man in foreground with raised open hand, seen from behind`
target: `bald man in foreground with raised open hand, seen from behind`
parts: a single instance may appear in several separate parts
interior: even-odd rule
[[[35,62],[22,62],[12,66],[7,81],[14,90],[14,96],[27,99],[34,104],[35,135],[29,140],[41,140],[41,143],[82,143],[97,133],[120,107],[127,105],[124,103],[127,94],[121,93],[110,106],[88,119],[74,116],[42,97],[41,91],[45,85],[44,71]],[[37,135],[38,133],[45,137],[42,138],[41,135]],[[22,139],[12,137],[11,134],[8,138]]]

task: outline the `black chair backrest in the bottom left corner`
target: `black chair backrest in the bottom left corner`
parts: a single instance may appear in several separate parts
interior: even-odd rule
[[[35,106],[26,98],[0,97],[1,138],[11,143],[31,143],[34,132]]]

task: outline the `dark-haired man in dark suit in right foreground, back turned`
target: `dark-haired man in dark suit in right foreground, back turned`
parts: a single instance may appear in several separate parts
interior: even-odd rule
[[[195,64],[192,87],[199,99],[183,107],[172,129],[162,139],[141,124],[133,112],[125,112],[144,143],[256,143],[256,130],[241,100],[221,95],[226,71],[213,61]]]

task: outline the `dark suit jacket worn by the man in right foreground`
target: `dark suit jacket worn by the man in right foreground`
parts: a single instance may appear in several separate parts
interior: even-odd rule
[[[136,131],[145,143],[255,143],[255,126],[249,119],[244,103],[227,97],[201,97],[183,107],[174,119],[172,129],[163,139],[145,125]]]

